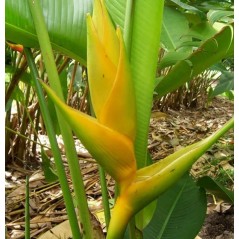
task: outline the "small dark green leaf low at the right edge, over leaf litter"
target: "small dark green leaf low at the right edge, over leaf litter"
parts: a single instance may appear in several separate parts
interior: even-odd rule
[[[225,200],[226,202],[234,203],[233,191],[225,188],[221,183],[212,179],[209,176],[204,176],[198,179],[198,185],[205,188],[207,191],[215,195],[216,197]]]

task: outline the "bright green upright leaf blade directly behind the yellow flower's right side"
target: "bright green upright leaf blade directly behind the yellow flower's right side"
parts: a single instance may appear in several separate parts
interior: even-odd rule
[[[164,1],[135,1],[132,16],[131,69],[136,93],[138,168],[147,165],[149,120],[157,67]]]

